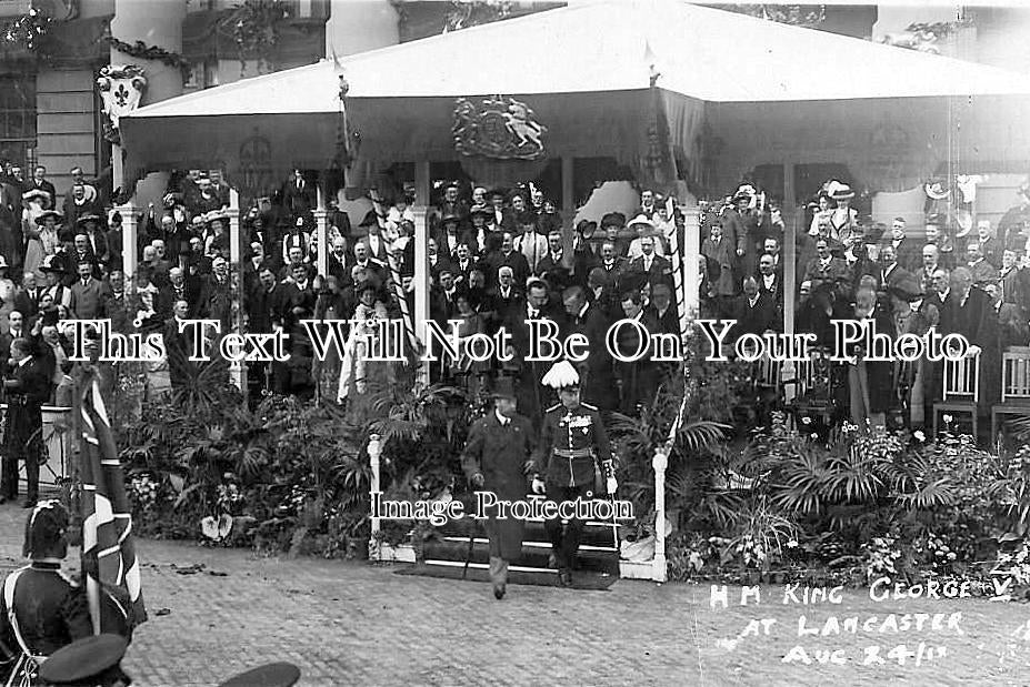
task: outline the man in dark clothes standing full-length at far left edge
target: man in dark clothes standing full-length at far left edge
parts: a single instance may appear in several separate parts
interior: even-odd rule
[[[39,498],[39,459],[46,451],[42,406],[50,397],[50,381],[32,355],[32,345],[27,339],[12,341],[10,353],[10,372],[3,380],[8,414],[0,497],[4,501],[18,497],[18,461],[24,461],[29,483],[24,507],[31,508]]]

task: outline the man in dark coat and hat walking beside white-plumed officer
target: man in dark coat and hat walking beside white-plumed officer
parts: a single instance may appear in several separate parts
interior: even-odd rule
[[[493,391],[493,412],[469,431],[461,454],[461,467],[477,491],[493,492],[498,501],[526,498],[526,466],[533,451],[529,420],[516,413],[516,393],[510,378],[500,378]],[[514,517],[486,521],[490,538],[490,582],[500,600],[508,583],[508,564],[522,553],[523,522]]]

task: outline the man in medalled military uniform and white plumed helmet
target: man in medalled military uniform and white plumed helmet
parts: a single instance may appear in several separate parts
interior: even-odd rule
[[[616,481],[608,433],[598,408],[580,402],[579,374],[566,361],[556,363],[543,376],[543,384],[558,390],[561,401],[547,410],[540,444],[534,454],[532,489],[547,494],[548,501],[591,499],[596,494],[598,467],[607,478],[609,494],[619,486]],[[566,527],[559,517],[544,522],[544,529],[558,563],[558,582],[572,586],[572,564],[579,549],[583,521],[572,518]]]

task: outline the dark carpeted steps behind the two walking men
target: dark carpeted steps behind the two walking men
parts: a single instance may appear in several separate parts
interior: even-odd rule
[[[542,498],[530,495],[528,498]],[[588,522],[580,537],[574,569],[597,575],[619,576],[619,528],[614,523]],[[488,569],[490,544],[483,521],[464,518],[450,522],[438,528],[439,536],[423,545],[423,565],[440,568],[463,568],[466,559],[469,569]],[[472,538],[471,555],[469,538]],[[558,569],[550,566],[551,544],[543,529],[542,519],[526,521],[522,536],[522,553],[518,560],[510,562],[512,573],[553,575],[557,583]]]

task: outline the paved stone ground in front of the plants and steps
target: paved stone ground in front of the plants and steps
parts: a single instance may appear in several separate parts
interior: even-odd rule
[[[20,564],[23,517],[0,507],[4,573]],[[299,665],[307,686],[1030,684],[1030,606],[1022,604],[876,603],[856,592],[840,605],[784,605],[783,588],[768,587],[757,606],[740,606],[740,589],[730,588],[730,605],[712,609],[707,585],[627,580],[608,592],[511,586],[498,603],[484,584],[366,563],[152,540],[139,552],[151,619],[137,630],[126,667],[143,687],[217,685],[272,660]],[[177,573],[196,564],[204,569]],[[899,623],[900,614],[961,613],[963,634],[931,629],[932,616],[921,632],[861,629],[877,616],[876,630],[891,613]],[[859,630],[799,639],[801,615],[820,627],[830,615],[842,624],[858,616]],[[753,625],[759,635],[747,636],[749,622],[761,618],[776,619],[770,635]],[[898,644],[918,656],[904,656],[903,666],[898,653],[888,658]],[[794,645],[811,665],[783,663]],[[868,645],[883,647],[884,665],[862,665]],[[838,648],[843,665],[817,661],[816,649]]]

